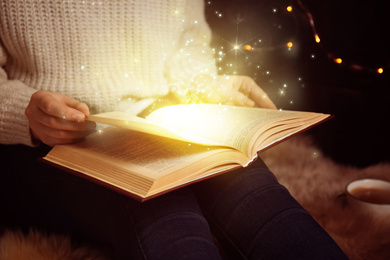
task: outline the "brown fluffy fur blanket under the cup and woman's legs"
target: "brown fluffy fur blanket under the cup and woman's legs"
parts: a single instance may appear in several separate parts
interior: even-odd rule
[[[346,185],[355,179],[390,180],[389,164],[364,169],[339,165],[324,157],[310,139],[303,137],[281,143],[261,153],[261,157],[350,259],[390,259],[390,216],[356,211],[344,194]],[[105,260],[108,257],[96,248],[75,248],[69,237],[6,231],[0,238],[0,259]]]

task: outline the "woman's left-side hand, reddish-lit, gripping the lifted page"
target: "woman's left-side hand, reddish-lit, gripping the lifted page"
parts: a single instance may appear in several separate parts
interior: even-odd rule
[[[89,108],[69,96],[38,91],[25,110],[33,138],[54,146],[82,140],[96,127],[86,121]]]

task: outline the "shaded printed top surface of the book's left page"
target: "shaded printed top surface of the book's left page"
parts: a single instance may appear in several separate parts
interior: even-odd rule
[[[79,154],[88,154],[89,157],[94,158],[91,162],[82,162],[83,165],[90,164],[88,167],[93,167],[92,164],[96,161],[106,161],[129,172],[142,172],[143,176],[153,180],[219,152],[219,148],[216,147],[196,145],[115,127],[103,129],[101,133],[94,133],[80,143],[59,147],[68,148]],[[75,160],[73,157],[75,156],[70,155],[67,160]]]

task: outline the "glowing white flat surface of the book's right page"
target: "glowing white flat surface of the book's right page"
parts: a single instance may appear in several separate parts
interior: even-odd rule
[[[271,123],[307,114],[314,113],[201,104],[164,107],[147,119],[178,135],[201,136],[247,153],[250,139],[261,134],[259,129],[266,130]]]

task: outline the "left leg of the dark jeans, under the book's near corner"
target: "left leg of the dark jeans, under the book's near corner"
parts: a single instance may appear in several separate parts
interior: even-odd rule
[[[0,193],[27,225],[111,245],[118,259],[218,257],[191,190],[139,203],[39,162],[44,149],[0,148],[20,155],[4,162]]]

